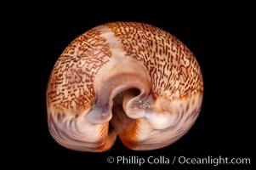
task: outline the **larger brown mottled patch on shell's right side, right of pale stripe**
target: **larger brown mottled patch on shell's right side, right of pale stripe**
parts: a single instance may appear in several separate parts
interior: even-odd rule
[[[174,89],[173,84],[168,83],[169,77],[172,77],[174,83],[178,83],[177,88],[174,90],[179,90],[179,95],[181,96],[196,93],[198,90],[202,91],[202,76],[199,65],[190,50],[182,42],[179,42],[176,37],[159,28],[142,23],[117,22],[106,24],[105,26],[111,27],[111,31],[122,42],[127,56],[138,59],[150,71],[151,78],[154,80],[152,83],[154,94],[159,96],[164,93],[162,86],[159,85],[163,85],[165,89],[170,91]],[[133,33],[124,34],[122,31],[127,30],[124,29],[127,27]],[[137,34],[141,34],[140,42],[136,38],[138,37]],[[155,41],[151,41],[152,39]],[[166,51],[167,48],[171,48],[171,53],[162,54],[162,51],[165,51],[165,47]],[[151,50],[139,50],[149,48]],[[172,62],[172,65],[167,65],[168,59],[174,59],[175,62]],[[164,74],[165,72],[168,72],[168,74]],[[188,79],[188,77],[190,78]],[[181,82],[184,82],[186,86],[182,85]],[[197,88],[193,84],[198,84],[199,87]],[[179,98],[179,96],[177,97]]]

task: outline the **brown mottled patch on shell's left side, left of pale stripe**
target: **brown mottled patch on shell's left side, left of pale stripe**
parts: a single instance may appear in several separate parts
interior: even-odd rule
[[[88,108],[94,102],[94,77],[111,58],[100,31],[92,29],[71,42],[54,65],[48,83],[48,105]]]

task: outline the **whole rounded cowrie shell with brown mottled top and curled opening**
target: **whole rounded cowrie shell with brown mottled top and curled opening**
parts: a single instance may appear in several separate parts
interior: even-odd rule
[[[48,129],[71,150],[173,144],[196,122],[203,83],[194,55],[155,26],[94,27],[60,55],[47,90]]]

